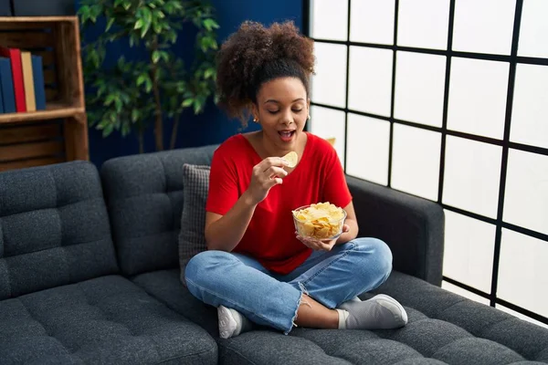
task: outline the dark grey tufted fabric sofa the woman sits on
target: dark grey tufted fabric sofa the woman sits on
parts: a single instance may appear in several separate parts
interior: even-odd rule
[[[439,287],[443,211],[348,177],[360,235],[391,246],[375,290],[396,330],[258,328],[219,339],[216,309],[179,281],[182,166],[215,146],[0,173],[0,363],[533,364],[548,329]],[[371,297],[366,293],[362,297]]]

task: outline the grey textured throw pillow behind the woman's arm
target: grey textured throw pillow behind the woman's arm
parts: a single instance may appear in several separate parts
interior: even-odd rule
[[[183,165],[183,213],[179,233],[179,266],[181,282],[188,261],[202,251],[205,246],[205,201],[209,189],[209,166]]]

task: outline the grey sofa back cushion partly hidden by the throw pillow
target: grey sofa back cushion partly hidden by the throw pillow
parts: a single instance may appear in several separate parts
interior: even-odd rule
[[[112,235],[125,275],[179,267],[183,165],[208,165],[215,149],[124,156],[102,165]]]

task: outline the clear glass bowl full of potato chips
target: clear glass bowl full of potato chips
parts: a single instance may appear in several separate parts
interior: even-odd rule
[[[319,240],[338,238],[346,219],[346,211],[329,202],[304,205],[292,213],[297,233]]]

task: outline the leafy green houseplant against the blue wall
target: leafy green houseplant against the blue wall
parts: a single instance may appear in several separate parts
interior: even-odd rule
[[[82,47],[90,126],[102,130],[103,137],[135,130],[143,152],[143,135],[153,123],[155,147],[161,151],[164,122],[173,120],[173,149],[184,109],[201,113],[215,95],[218,25],[213,6],[200,0],[80,0],[79,18],[82,32],[106,22],[104,33]],[[174,53],[184,24],[196,31],[191,65]],[[114,67],[105,68],[108,50],[119,42],[142,48],[146,57],[121,56]]]

